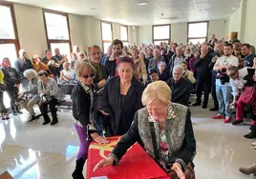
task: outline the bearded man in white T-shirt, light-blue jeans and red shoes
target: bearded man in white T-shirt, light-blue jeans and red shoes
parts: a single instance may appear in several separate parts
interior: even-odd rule
[[[232,44],[225,44],[224,55],[217,59],[213,68],[213,70],[218,72],[216,79],[216,93],[219,102],[219,114],[213,116],[213,119],[224,118],[224,123],[231,122],[231,112],[229,106],[232,101],[232,89],[226,71],[230,66],[238,67],[239,63],[238,58],[233,56],[232,52]]]

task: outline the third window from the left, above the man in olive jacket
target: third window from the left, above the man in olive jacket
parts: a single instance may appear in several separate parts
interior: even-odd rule
[[[112,44],[112,23],[101,21],[102,47],[104,53],[107,53],[109,46]]]

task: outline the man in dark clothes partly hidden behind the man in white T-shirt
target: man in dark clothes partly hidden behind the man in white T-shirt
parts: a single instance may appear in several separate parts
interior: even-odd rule
[[[211,62],[209,64],[209,68],[211,70],[211,95],[213,98],[213,102],[214,102],[214,107],[212,109],[210,109],[210,111],[218,111],[219,109],[219,102],[217,100],[217,95],[216,95],[216,76],[217,76],[217,72],[215,70],[213,70],[213,67],[217,61],[217,59],[221,56],[223,56],[224,54],[224,42],[223,41],[218,41],[215,43],[215,51],[210,53],[211,56]]]

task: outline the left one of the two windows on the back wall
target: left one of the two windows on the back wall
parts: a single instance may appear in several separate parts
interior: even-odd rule
[[[160,42],[170,43],[170,25],[153,26],[153,43],[158,45]]]

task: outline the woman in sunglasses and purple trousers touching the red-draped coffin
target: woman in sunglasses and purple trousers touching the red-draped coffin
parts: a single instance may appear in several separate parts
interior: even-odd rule
[[[93,78],[96,70],[87,61],[78,61],[75,64],[77,83],[72,91],[73,121],[80,140],[80,148],[77,154],[75,171],[72,176],[75,179],[84,178],[82,171],[87,159],[88,148],[92,140],[99,144],[108,143],[108,140],[97,134],[91,117],[91,106],[94,101],[92,89]]]

